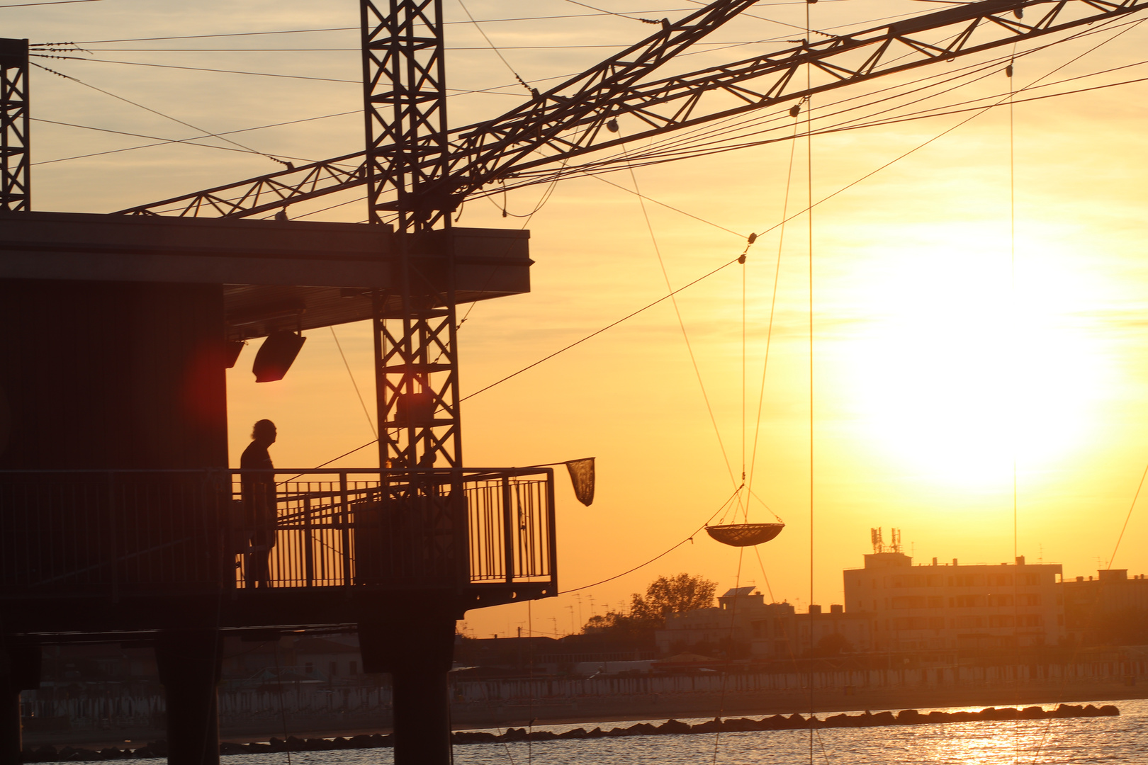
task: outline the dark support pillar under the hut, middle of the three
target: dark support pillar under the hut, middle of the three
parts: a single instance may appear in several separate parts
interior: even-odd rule
[[[161,633],[155,646],[168,700],[168,763],[219,765],[217,686],[223,645],[215,630]]]

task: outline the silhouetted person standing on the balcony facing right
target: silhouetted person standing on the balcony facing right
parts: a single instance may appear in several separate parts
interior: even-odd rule
[[[267,560],[276,546],[276,476],[271,470],[267,447],[276,443],[276,423],[259,420],[251,428],[251,443],[239,458],[243,484],[245,528],[249,534],[249,553],[245,575],[248,587],[269,587],[271,569]]]

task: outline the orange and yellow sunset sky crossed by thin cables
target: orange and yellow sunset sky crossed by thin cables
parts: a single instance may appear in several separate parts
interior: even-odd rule
[[[589,5],[650,18],[678,18],[696,7],[652,0]],[[580,71],[652,30],[571,0],[466,0],[465,7],[483,22],[514,72],[542,80],[543,89],[554,81],[545,78]],[[914,0],[822,0],[810,9],[812,25],[864,29],[881,23],[874,19],[939,7]],[[463,6],[445,0],[444,8],[457,22],[448,28],[448,85],[496,91],[452,95],[451,122],[466,124],[520,103],[526,91]],[[750,11],[755,17],[714,33],[709,41],[721,45],[703,46],[678,69],[785,47],[786,40],[805,36],[805,11],[804,3],[761,2]],[[521,16],[532,18],[484,21]],[[33,71],[37,210],[109,212],[279,169],[247,149],[297,161],[363,146],[358,10],[350,0],[94,0],[5,7],[0,21],[5,37],[75,41],[90,53],[59,55],[92,60],[34,60],[92,86]],[[1087,37],[1032,55],[1018,49],[1013,86],[1037,86],[1017,99],[1148,77],[1148,26],[1133,22],[1139,15],[1088,28]],[[316,29],[334,31],[138,40]],[[127,38],[132,41],[94,42]],[[819,97],[813,114],[822,119],[814,127],[840,122],[830,112],[867,94],[850,101],[874,102],[851,112],[864,122],[879,111],[887,120],[923,109],[995,102],[1009,92],[1004,62],[912,92],[921,78],[940,83],[941,76],[1010,53],[1002,48]],[[877,95],[893,86],[895,92]],[[897,99],[876,103],[890,94]],[[1063,563],[1068,577],[1109,564],[1148,463],[1146,103],[1148,84],[1133,83],[1015,107],[1015,236],[1006,107],[813,139],[814,201],[917,149],[814,210],[813,602],[841,602],[840,571],[860,565],[870,552],[871,526],[883,526],[886,539],[891,526],[901,529],[906,552],[922,563],[933,556],[1010,561],[1014,463],[1018,553],[1030,562]],[[776,128],[761,138],[792,131],[788,107],[755,116],[768,116],[773,122],[763,124]],[[341,112],[351,114],[329,116]],[[236,131],[319,117],[230,135],[243,148],[204,139],[203,146],[109,154],[155,142],[140,136],[192,139],[202,135],[195,128]],[[637,128],[621,122],[623,132]],[[577,504],[565,475],[558,475],[563,590],[618,575],[689,537],[739,483],[743,424],[747,455],[759,432],[753,491],[788,524],[758,548],[760,565],[748,549],[738,571],[738,551],[703,532],[649,567],[581,591],[581,601],[564,595],[535,602],[536,633],[557,629],[565,634],[579,619],[616,608],[656,576],[681,571],[715,579],[720,591],[739,580],[801,610],[809,602],[809,228],[806,217],[796,218],[779,248],[777,224],[786,189],[791,214],[805,208],[810,189],[805,141],[796,145],[786,184],[792,142],[779,141],[641,167],[633,177],[622,171],[567,180],[530,217],[504,218],[501,198],[465,206],[459,225],[527,227],[536,263],[529,295],[479,304],[467,313],[459,331],[464,396],[665,295],[659,251],[677,288],[736,257],[750,233],[768,231],[750,248],[744,267],[729,266],[677,300],[729,467],[669,302],[464,405],[464,454],[471,466],[597,458],[592,507]],[[94,156],[70,158],[79,155]],[[633,194],[635,182],[657,201],[646,202],[649,227]],[[507,212],[529,213],[544,190],[510,193]],[[360,221],[359,196],[356,190],[324,197],[293,209],[292,217],[346,202],[304,219]],[[748,298],[744,388],[743,271]],[[369,396],[370,329],[348,325],[335,331]],[[315,466],[372,438],[328,329],[308,333],[282,382],[255,384],[253,358],[254,348],[247,349],[228,373],[234,463],[250,423],[261,417],[279,426],[272,456],[281,467]],[[367,448],[341,465],[370,466],[374,454]],[[1133,510],[1114,568],[1143,572],[1146,513]],[[773,515],[753,502],[750,520]],[[472,611],[466,626],[479,637],[532,629],[525,604]]]

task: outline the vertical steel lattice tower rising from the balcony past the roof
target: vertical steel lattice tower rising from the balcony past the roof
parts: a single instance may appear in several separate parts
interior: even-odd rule
[[[387,296],[374,297],[379,459],[458,468],[455,263],[450,236],[434,232],[450,217],[422,204],[447,169],[442,0],[360,0],[360,9],[370,220],[393,214],[400,233],[401,310],[388,313]],[[435,515],[449,515],[445,505],[430,501]]]

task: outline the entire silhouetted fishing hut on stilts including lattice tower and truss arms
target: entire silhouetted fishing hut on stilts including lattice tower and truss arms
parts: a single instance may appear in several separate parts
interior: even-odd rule
[[[115,216],[30,211],[29,46],[0,40],[0,765],[20,759],[18,692],[44,642],[154,646],[169,759],[212,765],[219,634],[333,625],[357,627],[364,669],[394,677],[396,763],[445,765],[453,620],[557,592],[552,473],[466,468],[461,451],[456,307],[529,289],[528,233],[455,227],[451,212],[627,141],[1148,5],[983,0],[653,78],[753,2],[664,21],[451,128],[441,0],[360,0],[364,151]],[[630,162],[603,156],[594,167]],[[370,225],[240,220],[355,186]],[[242,570],[253,534],[226,467],[224,369],[266,337],[278,350],[256,373],[276,380],[302,333],[360,320],[380,468],[277,474],[270,586],[248,586],[264,572]]]

